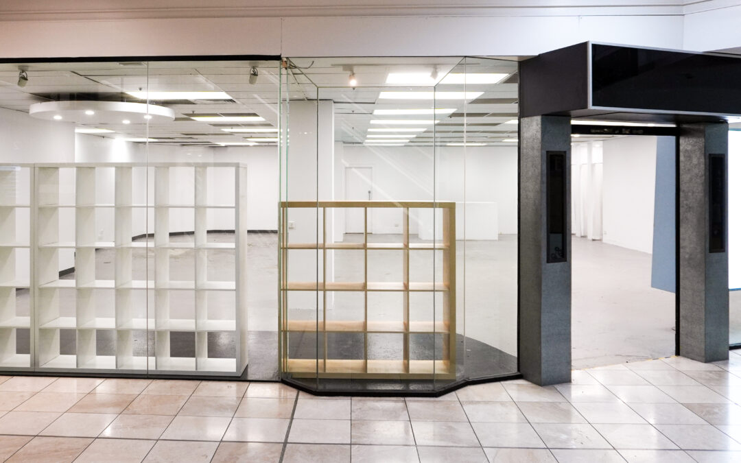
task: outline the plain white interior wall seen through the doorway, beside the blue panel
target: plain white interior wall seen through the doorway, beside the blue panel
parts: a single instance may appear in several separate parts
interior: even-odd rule
[[[632,136],[602,143],[602,240],[651,253],[657,139]]]

